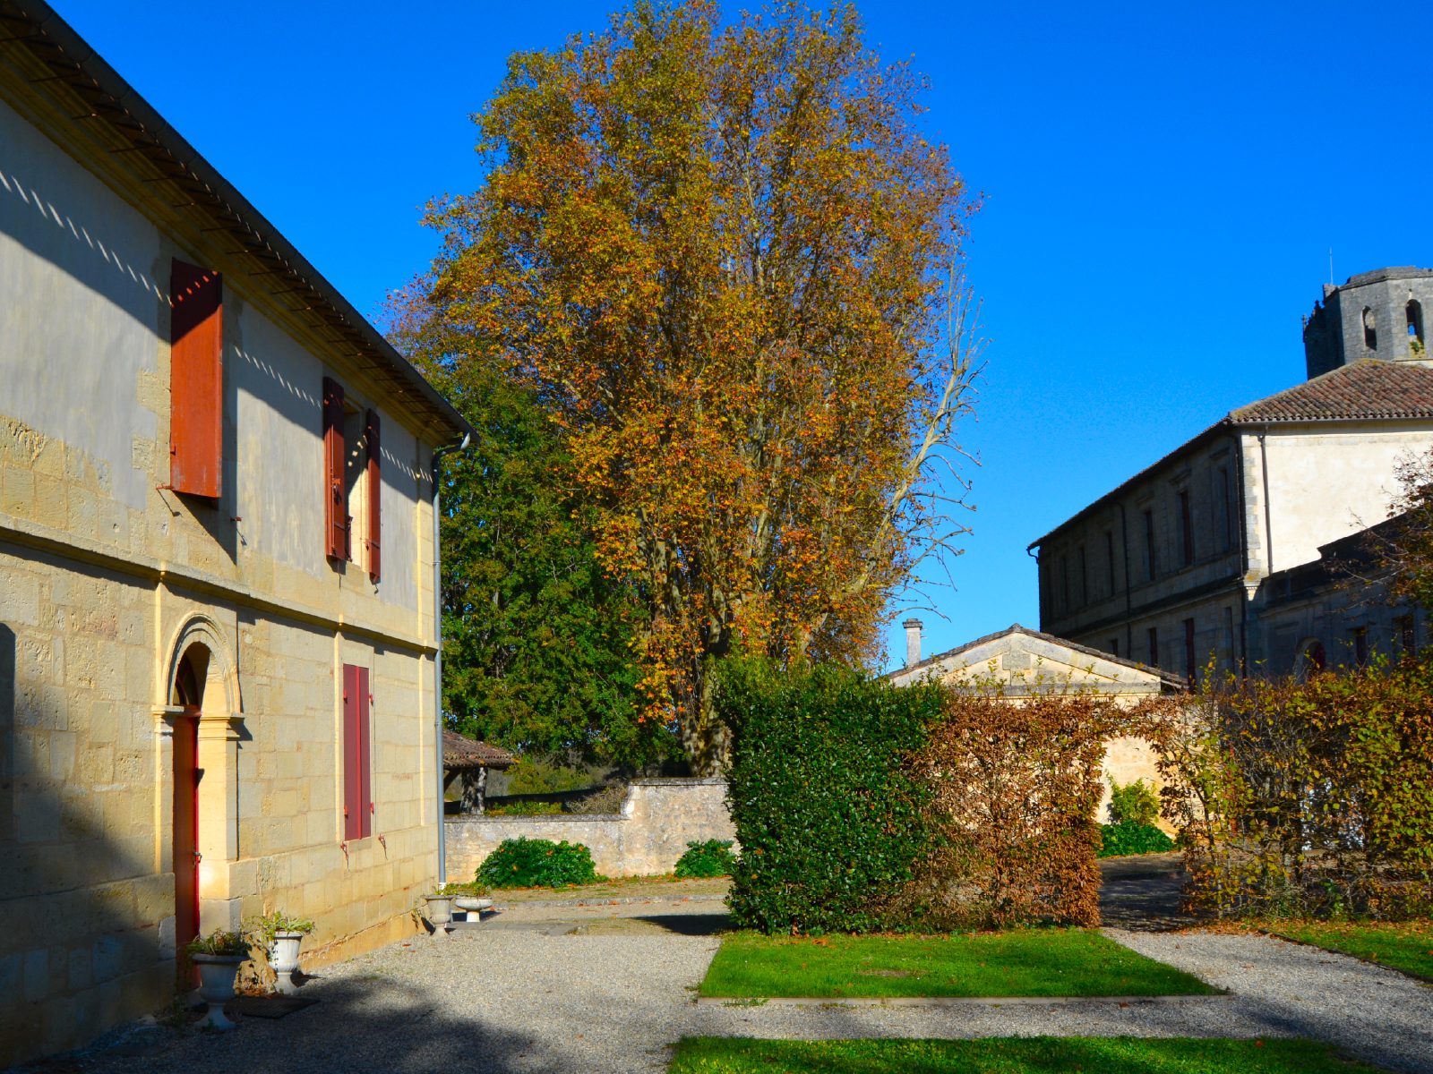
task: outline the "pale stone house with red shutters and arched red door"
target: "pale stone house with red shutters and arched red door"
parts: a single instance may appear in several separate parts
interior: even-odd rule
[[[467,424],[39,0],[0,0],[0,1067],[198,931],[411,931]]]

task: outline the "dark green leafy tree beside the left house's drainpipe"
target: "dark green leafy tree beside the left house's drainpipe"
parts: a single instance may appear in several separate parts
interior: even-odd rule
[[[473,737],[524,755],[639,770],[675,752],[645,719],[635,586],[599,563],[572,458],[530,388],[481,341],[400,311],[394,339],[473,424],[443,463],[443,710]],[[421,306],[417,306],[421,311]]]

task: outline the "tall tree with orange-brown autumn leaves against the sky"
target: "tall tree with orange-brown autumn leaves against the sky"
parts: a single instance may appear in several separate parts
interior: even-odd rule
[[[698,770],[727,753],[715,660],[870,659],[887,597],[964,528],[937,467],[973,375],[972,202],[920,89],[851,7],[639,3],[510,59],[474,117],[486,182],[428,215],[424,315],[560,424],[646,606],[648,712]]]

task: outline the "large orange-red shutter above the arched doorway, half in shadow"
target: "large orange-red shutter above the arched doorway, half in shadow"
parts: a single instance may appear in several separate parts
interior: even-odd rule
[[[175,259],[169,269],[169,487],[218,498],[224,455],[224,282]]]

